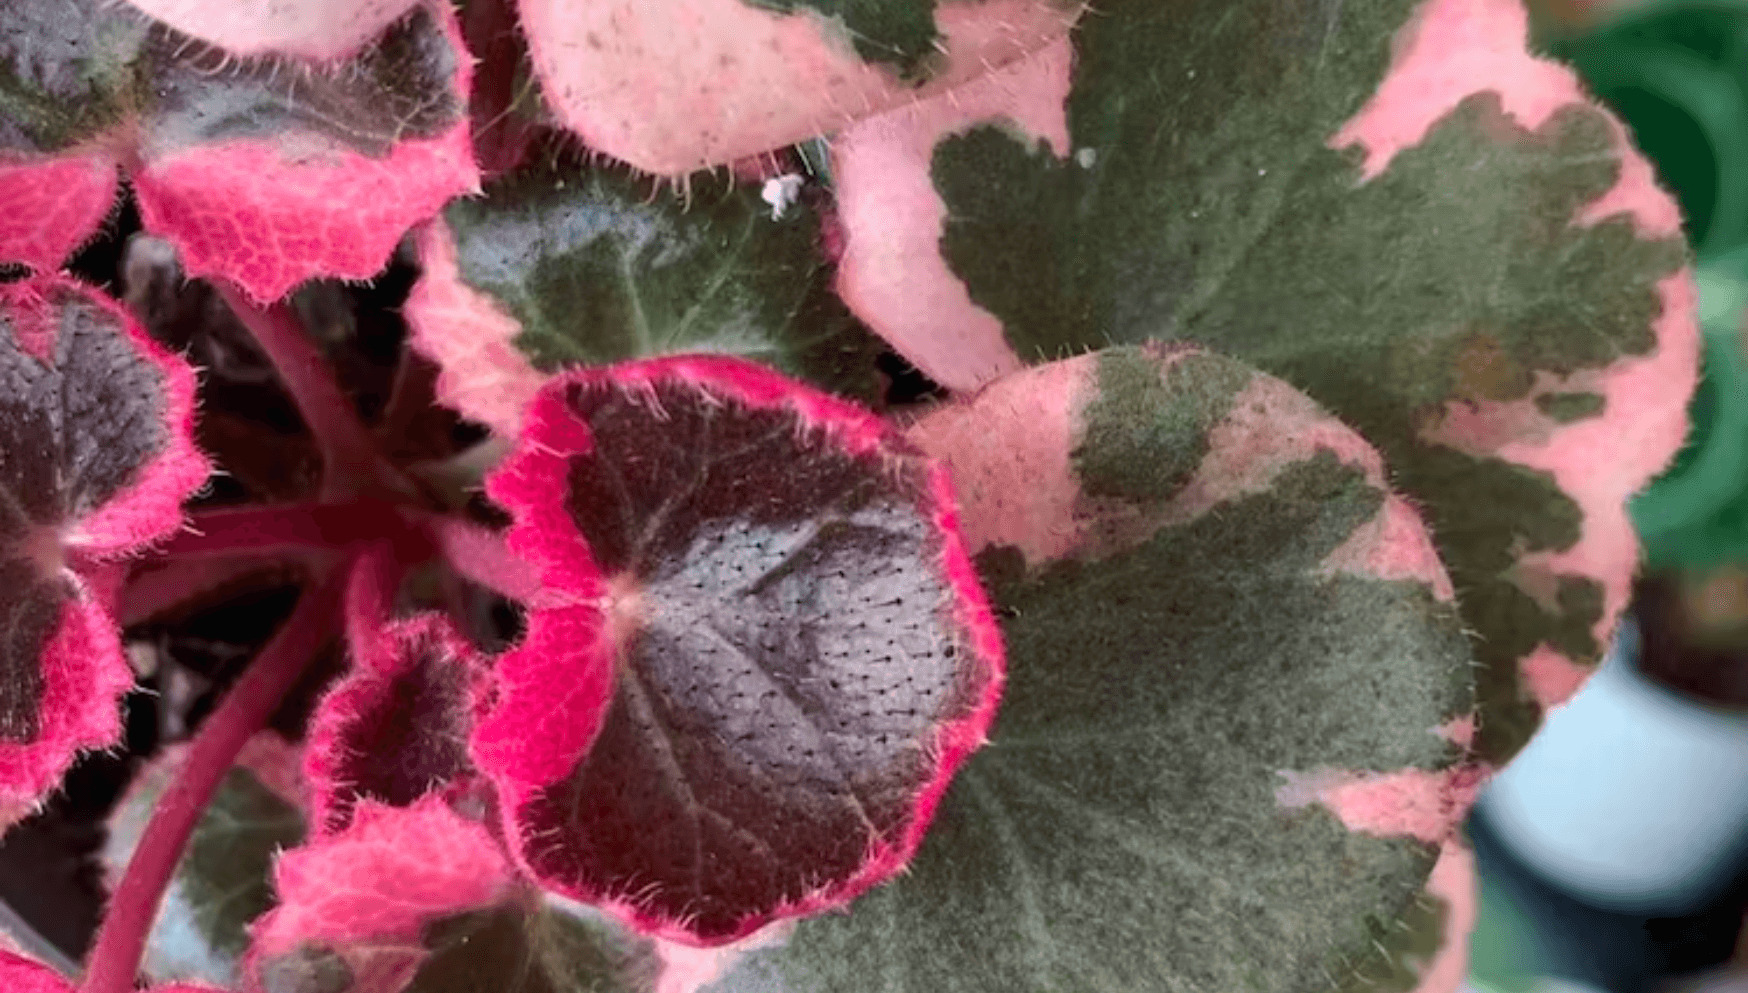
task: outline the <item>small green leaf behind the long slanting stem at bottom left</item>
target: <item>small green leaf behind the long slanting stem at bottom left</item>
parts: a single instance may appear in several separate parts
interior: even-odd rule
[[[100,857],[112,881],[121,879],[185,755],[177,748],[154,759],[110,815]],[[152,921],[142,969],[154,981],[234,988],[248,923],[273,906],[273,858],[304,839],[294,748],[267,733],[238,759],[194,827]]]

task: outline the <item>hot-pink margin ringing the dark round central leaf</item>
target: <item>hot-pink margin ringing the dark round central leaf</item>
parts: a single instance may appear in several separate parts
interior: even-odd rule
[[[617,652],[615,624],[601,607],[608,596],[608,580],[563,507],[570,458],[594,448],[589,428],[566,407],[565,390],[572,385],[612,385],[638,392],[666,381],[689,383],[752,409],[792,411],[808,430],[825,434],[850,453],[888,462],[893,470],[900,469],[900,460],[921,462],[926,467],[926,510],[942,542],[942,572],[954,593],[953,617],[968,636],[965,647],[977,661],[974,682],[981,687],[965,717],[937,729],[930,748],[933,774],[918,792],[914,815],[897,843],[874,843],[862,867],[848,879],[825,883],[771,913],[746,914],[720,937],[704,941],[687,930],[683,921],[650,913],[633,900],[584,893],[542,879],[544,886],[565,897],[607,909],[640,934],[678,946],[710,948],[746,939],[773,921],[843,906],[898,874],[921,846],[953,774],[988,741],[1005,687],[1007,661],[995,612],[960,535],[947,469],[928,462],[876,414],[764,365],[729,357],[662,357],[561,374],[535,399],[517,449],[486,483],[491,498],[516,519],[509,535],[510,549],[535,563],[549,587],[594,598],[593,603],[537,608],[530,614],[526,640],[498,663],[495,706],[475,726],[474,760],[496,781],[503,832],[512,839],[510,850],[524,872],[537,876],[526,857],[526,837],[517,815],[535,794],[566,776],[594,743],[612,699]],[[556,698],[549,689],[556,685],[572,689]]]

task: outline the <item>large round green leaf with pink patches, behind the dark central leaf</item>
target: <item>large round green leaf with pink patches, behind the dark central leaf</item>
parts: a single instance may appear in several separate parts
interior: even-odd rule
[[[1463,816],[1449,586],[1351,430],[1196,351],[923,418],[1009,684],[909,871],[715,993],[1412,990]],[[1454,988],[1461,970],[1449,977]]]

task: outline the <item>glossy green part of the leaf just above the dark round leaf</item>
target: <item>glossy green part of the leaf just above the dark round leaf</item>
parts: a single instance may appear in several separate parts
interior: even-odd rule
[[[877,343],[830,292],[811,199],[773,217],[732,180],[694,177],[682,192],[624,168],[554,166],[444,217],[461,281],[514,315],[516,346],[544,371],[711,351],[865,399]]]

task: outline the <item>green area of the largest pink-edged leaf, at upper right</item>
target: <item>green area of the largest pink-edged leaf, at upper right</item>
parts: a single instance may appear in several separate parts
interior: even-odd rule
[[[1540,720],[1521,661],[1538,647],[1599,659],[1633,556],[1573,549],[1629,547],[1619,507],[1633,483],[1578,495],[1502,449],[1545,446],[1542,462],[1556,465],[1603,458],[1559,432],[1620,402],[1675,423],[1664,407],[1687,388],[1676,371],[1648,400],[1606,386],[1659,351],[1661,283],[1687,253],[1626,215],[1578,222],[1620,180],[1626,150],[1570,79],[1570,93],[1542,77],[1475,82],[1381,175],[1365,173],[1376,163],[1358,150],[1334,149],[1383,86],[1393,38],[1407,47],[1395,35],[1414,9],[1106,3],[1075,35],[1073,154],[982,126],[935,147],[933,180],[947,210],[942,252],[1021,358],[1197,341],[1294,383],[1384,453],[1463,591],[1482,663],[1482,750],[1505,760]],[[1472,35],[1521,47],[1509,14],[1477,10],[1465,14]],[[1437,59],[1440,45],[1467,42],[1423,44]],[[1545,122],[1503,110],[1545,89],[1564,100]],[[1634,441],[1645,476],[1661,444]],[[1612,561],[1533,561],[1557,552]]]

